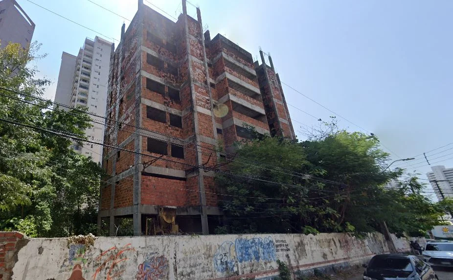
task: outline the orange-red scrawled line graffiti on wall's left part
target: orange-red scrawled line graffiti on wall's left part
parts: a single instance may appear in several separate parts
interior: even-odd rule
[[[131,243],[126,244],[121,248],[113,246],[96,257],[95,265],[97,266],[97,269],[94,273],[93,280],[121,278],[126,267],[124,261],[128,259],[124,256],[124,253],[127,251],[135,251],[131,246]]]

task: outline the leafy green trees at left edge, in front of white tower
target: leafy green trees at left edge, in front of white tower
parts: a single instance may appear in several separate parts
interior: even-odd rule
[[[58,135],[86,139],[91,119],[77,110],[46,110],[51,103],[35,98],[50,84],[32,65],[44,57],[39,47],[0,49],[0,87],[16,91],[0,89],[0,230],[31,237],[95,233],[100,165]]]

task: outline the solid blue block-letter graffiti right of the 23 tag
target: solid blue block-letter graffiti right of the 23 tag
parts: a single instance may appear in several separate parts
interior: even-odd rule
[[[276,260],[272,238],[237,238],[234,244],[238,262]]]

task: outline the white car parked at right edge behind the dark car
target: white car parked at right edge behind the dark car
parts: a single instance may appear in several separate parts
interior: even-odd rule
[[[423,258],[432,266],[453,267],[453,242],[428,242]]]

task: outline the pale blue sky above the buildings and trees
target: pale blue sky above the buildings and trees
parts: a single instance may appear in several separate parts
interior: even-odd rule
[[[121,24],[129,24],[89,0],[32,1],[110,37],[105,39],[119,39]],[[92,1],[127,19],[136,13],[136,0]],[[36,23],[33,40],[42,43],[41,50],[48,53],[37,65],[43,75],[54,81],[46,93],[53,99],[62,51],[77,55],[85,37],[99,34],[27,0],[18,2]],[[180,0],[150,2],[175,18],[181,12]],[[254,57],[259,47],[271,53],[284,83],[376,134],[385,150],[393,151],[393,160],[453,142],[453,1],[190,2],[200,6],[203,24],[208,25],[211,37],[221,33]],[[196,16],[190,4],[188,13]],[[317,118],[333,115],[288,87],[283,89],[289,104]],[[294,129],[303,139],[298,122],[311,126],[317,120],[291,106],[289,110]],[[337,118],[340,127],[361,130]],[[453,145],[428,153],[428,158],[445,155],[432,162],[449,159],[453,149],[429,155],[450,147]],[[423,165],[422,156],[416,158],[412,162],[420,164],[412,167]],[[453,160],[436,164],[453,167]],[[424,174],[430,167],[416,170],[426,178]]]

